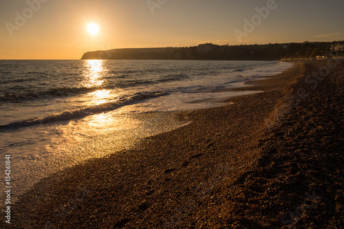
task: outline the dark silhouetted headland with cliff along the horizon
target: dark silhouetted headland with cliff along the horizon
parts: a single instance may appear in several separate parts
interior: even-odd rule
[[[129,48],[85,52],[81,59],[130,60],[236,60],[270,61],[280,58],[310,58],[330,54],[338,42],[304,42],[268,45],[214,45],[195,47]]]

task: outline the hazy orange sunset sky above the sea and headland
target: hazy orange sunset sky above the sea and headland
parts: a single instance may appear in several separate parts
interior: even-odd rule
[[[6,0],[0,59],[78,59],[94,50],[206,42],[340,41],[343,9],[343,0]],[[89,23],[99,32],[87,31]],[[238,32],[245,36],[238,39]]]

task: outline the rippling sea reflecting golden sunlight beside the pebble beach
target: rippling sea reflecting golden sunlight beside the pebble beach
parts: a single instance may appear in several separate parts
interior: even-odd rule
[[[0,61],[0,181],[18,197],[42,178],[180,128],[176,111],[223,106],[226,91],[279,74],[279,61]],[[222,90],[219,90],[222,89]],[[13,198],[15,198],[13,197]]]

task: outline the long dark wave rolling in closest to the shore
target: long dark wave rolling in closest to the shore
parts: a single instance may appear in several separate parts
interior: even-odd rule
[[[19,122],[12,122],[9,124],[4,124],[0,126],[0,130],[4,129],[17,129],[21,127],[30,127],[36,124],[47,124],[50,122],[63,121],[63,120],[72,120],[75,118],[83,118],[86,116],[91,116],[96,113],[103,113],[106,111],[113,111],[120,107],[131,105],[135,102],[140,102],[145,99],[155,98],[160,96],[166,96],[169,93],[164,91],[156,92],[138,92],[131,96],[122,97],[114,102],[107,102],[101,105],[94,105],[89,107],[82,107],[78,109],[66,110],[60,113],[52,113],[49,116],[41,118],[32,118],[29,120],[22,120]]]

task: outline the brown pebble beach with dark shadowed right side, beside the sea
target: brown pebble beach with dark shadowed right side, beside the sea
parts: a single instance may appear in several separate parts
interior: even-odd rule
[[[43,179],[12,228],[343,228],[344,67],[330,63],[295,61],[246,88],[262,93]]]

